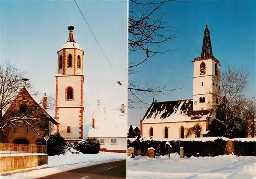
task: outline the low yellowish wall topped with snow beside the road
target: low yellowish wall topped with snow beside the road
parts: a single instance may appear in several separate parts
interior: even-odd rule
[[[0,155],[0,172],[37,167],[48,163],[47,154]]]

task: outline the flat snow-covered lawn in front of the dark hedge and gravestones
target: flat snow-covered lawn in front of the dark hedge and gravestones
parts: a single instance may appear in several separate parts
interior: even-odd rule
[[[256,179],[256,157],[216,156],[180,159],[178,154],[148,158],[136,156],[127,159],[127,178],[209,178]]]

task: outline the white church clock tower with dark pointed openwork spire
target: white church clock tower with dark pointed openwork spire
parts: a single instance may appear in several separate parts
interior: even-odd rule
[[[219,103],[220,62],[212,54],[208,25],[204,30],[201,57],[193,61],[193,110],[208,110]]]

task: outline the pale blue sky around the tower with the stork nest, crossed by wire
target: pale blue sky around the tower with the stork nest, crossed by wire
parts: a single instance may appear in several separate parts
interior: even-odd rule
[[[28,71],[36,91],[55,96],[57,51],[74,39],[84,50],[85,122],[93,107],[119,107],[127,103],[127,1],[79,1],[77,3],[108,57],[122,86],[101,53],[74,1],[1,0],[1,62],[10,61]],[[86,132],[87,132],[86,126]]]

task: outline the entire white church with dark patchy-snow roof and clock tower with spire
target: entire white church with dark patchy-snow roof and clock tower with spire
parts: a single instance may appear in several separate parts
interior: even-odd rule
[[[208,134],[220,96],[220,62],[213,56],[206,25],[201,56],[193,61],[193,98],[153,102],[140,120],[145,138],[194,138]]]

